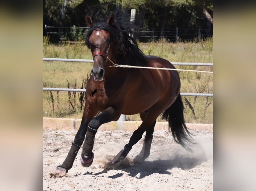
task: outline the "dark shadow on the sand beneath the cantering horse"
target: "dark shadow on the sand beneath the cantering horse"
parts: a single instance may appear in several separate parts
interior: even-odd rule
[[[168,170],[172,168],[181,168],[182,170],[189,170],[191,168],[194,168],[197,165],[202,164],[202,162],[207,161],[206,158],[191,158],[191,157],[180,157],[176,156],[172,160],[154,160],[154,161],[143,161],[139,162],[137,160],[133,160],[132,162],[129,161],[129,159],[124,159],[122,162],[118,164],[107,164],[101,172],[97,173],[91,173],[86,172],[84,175],[92,175],[97,176],[104,173],[107,173],[108,171],[115,169],[115,170],[122,170],[125,172],[128,172],[129,176],[135,177],[135,178],[144,178],[146,176],[149,176],[153,173],[159,173],[159,174],[171,174]],[[124,173],[117,173],[113,176],[108,176],[109,178],[119,178],[123,176]]]

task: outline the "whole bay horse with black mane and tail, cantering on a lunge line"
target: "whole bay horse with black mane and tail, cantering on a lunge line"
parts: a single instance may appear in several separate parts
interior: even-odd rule
[[[87,83],[81,125],[68,156],[57,166],[56,173],[63,176],[71,169],[83,142],[80,160],[84,167],[89,167],[94,159],[92,150],[97,130],[104,123],[117,121],[121,114],[139,113],[142,123],[112,163],[123,160],[146,132],[142,150],[136,156],[144,161],[150,154],[156,118],[161,114],[161,118],[168,121],[174,140],[191,151],[195,141],[183,117],[178,72],[118,68],[113,64],[155,68],[174,66],[165,59],[145,56],[138,48],[131,26],[128,22],[115,19],[114,14],[95,23],[90,16],[86,16],[86,23],[90,28],[85,42],[94,59],[92,75]],[[95,90],[101,96],[90,96]]]

